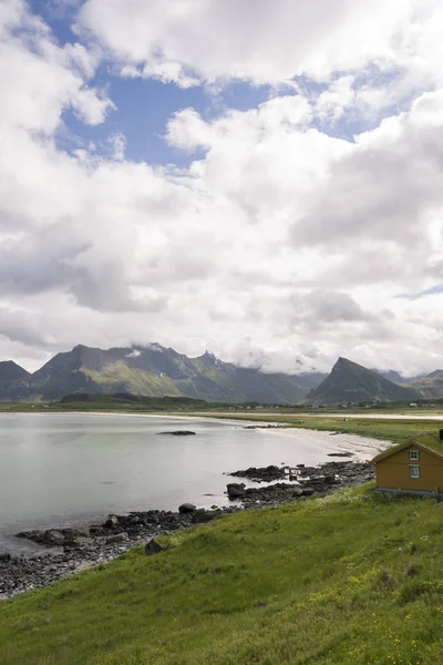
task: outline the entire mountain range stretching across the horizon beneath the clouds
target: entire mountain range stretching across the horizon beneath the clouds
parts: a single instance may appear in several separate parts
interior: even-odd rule
[[[33,374],[12,360],[0,362],[0,401],[56,400],[75,392],[189,397],[227,403],[414,401],[443,398],[443,370],[405,379],[393,370],[371,370],[339,358],[329,375],[265,374],[223,362],[209,352],[189,358],[158,344],[106,350],[79,345],[56,354]]]

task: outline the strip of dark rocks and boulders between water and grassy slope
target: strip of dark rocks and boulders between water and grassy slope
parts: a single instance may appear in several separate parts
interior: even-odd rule
[[[0,600],[20,592],[47,586],[61,577],[87,567],[107,563],[131,548],[150,542],[153,538],[177,529],[209,522],[220,514],[243,509],[279,505],[316,493],[358,484],[373,478],[370,464],[352,461],[327,462],[319,467],[250,468],[229,473],[254,480],[271,482],[265,487],[229,483],[229,507],[210,510],[183,504],[178,512],[146,511],[128,515],[109,515],[102,524],[82,528],[33,530],[17,534],[44,545],[45,550],[31,557],[14,557],[0,553]],[[287,482],[275,482],[286,480]],[[229,490],[229,488],[237,490]]]

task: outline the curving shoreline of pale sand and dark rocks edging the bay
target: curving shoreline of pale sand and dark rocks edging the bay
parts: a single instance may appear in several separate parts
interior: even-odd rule
[[[135,416],[137,418],[169,419],[172,422],[177,420],[207,422],[210,420],[220,423],[217,418],[208,419],[192,415],[164,416],[163,413],[110,413],[100,411],[71,411],[70,413],[94,417],[114,416],[116,418]],[[245,475],[241,475],[239,471],[226,470],[224,473],[225,484],[236,480],[236,478],[233,481],[229,480],[231,474],[239,477],[240,483],[245,481],[244,497],[238,501],[229,502],[228,505],[219,504],[213,505],[210,509],[196,509],[190,514],[177,512],[178,505],[176,505],[175,510],[169,511],[137,510],[120,515],[113,514],[99,524],[80,523],[73,520],[70,526],[60,526],[59,522],[58,526],[53,525],[45,530],[34,529],[23,532],[21,538],[29,539],[25,542],[39,543],[39,546],[44,545],[45,549],[25,556],[1,554],[0,552],[0,600],[7,600],[18,593],[53,584],[61,577],[75,574],[87,567],[105,564],[124,554],[127,550],[146,544],[153,538],[176,529],[206,523],[216,516],[238,510],[280,505],[308,495],[329,493],[343,487],[364,482],[373,477],[373,470],[365,463],[365,460],[374,457],[379,450],[390,444],[388,440],[381,441],[359,434],[279,427],[276,423],[267,423],[266,420],[257,423],[257,420],[248,421],[233,418],[231,420],[223,419],[222,422],[249,430],[249,436],[253,438],[254,430],[261,432],[264,429],[266,433],[272,432],[275,436],[285,438],[290,438],[291,434],[298,437],[302,434],[303,442],[308,448],[311,447],[311,443],[317,448],[324,448],[324,460],[329,459],[330,461],[315,462],[316,466],[311,467],[299,463],[297,469],[281,467],[279,474],[277,473],[275,478],[262,474],[261,480],[258,479],[258,482],[255,477],[248,477],[248,471],[245,472]],[[270,427],[268,428],[267,424]],[[334,457],[348,457],[350,460],[332,461]],[[253,463],[255,461],[254,450],[251,450],[250,461]],[[268,470],[269,468],[265,469],[265,471]],[[258,471],[262,472],[264,469]],[[258,484],[260,482],[264,482],[264,484]],[[216,503],[217,499],[214,499],[214,501]],[[208,507],[209,503],[206,505]],[[105,513],[96,511],[95,514],[103,515]],[[100,520],[102,519],[100,518]],[[107,524],[110,520],[111,526]]]

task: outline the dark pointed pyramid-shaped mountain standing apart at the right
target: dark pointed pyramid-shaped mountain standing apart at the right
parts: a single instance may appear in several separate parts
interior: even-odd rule
[[[413,388],[405,388],[347,358],[339,358],[331,374],[307,396],[306,402],[341,405],[349,402],[402,401],[418,399]]]

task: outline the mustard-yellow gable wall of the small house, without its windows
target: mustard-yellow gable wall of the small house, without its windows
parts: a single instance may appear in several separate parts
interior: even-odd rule
[[[410,461],[409,451],[418,450],[420,460]],[[410,478],[410,464],[419,464],[420,478]],[[377,487],[402,490],[443,491],[443,459],[413,444],[377,463]]]

